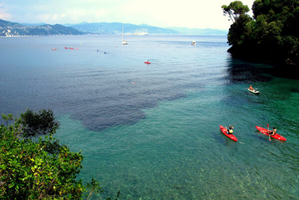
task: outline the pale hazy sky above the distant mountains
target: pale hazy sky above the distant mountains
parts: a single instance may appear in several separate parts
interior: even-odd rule
[[[19,23],[122,22],[228,29],[221,5],[233,0],[0,0],[0,19]],[[252,7],[254,0],[241,0]],[[252,12],[249,12],[252,15]]]

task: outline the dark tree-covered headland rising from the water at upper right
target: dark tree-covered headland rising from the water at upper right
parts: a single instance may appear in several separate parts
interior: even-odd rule
[[[238,10],[232,8],[235,2],[223,5],[224,13],[235,13]],[[241,9],[229,29],[228,43],[232,45],[229,51],[251,60],[298,64],[298,5],[299,0],[255,0],[253,19]]]

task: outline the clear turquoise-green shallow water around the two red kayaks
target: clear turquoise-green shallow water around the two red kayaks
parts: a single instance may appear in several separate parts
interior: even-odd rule
[[[257,85],[275,91],[281,81]],[[64,115],[57,135],[83,150],[80,178],[101,180],[110,196],[121,190],[122,199],[296,199],[298,116],[287,110],[298,113],[299,94],[287,92],[292,85],[285,83],[286,95],[269,100],[275,92],[255,96],[244,87],[206,87],[144,110],[146,118],[136,124],[100,132]],[[269,121],[287,142],[269,141],[254,127]],[[232,122],[238,142],[219,131],[219,124]]]

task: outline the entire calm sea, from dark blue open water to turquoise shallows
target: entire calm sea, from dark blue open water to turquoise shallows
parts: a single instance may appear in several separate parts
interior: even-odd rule
[[[0,38],[0,113],[51,108],[56,138],[82,150],[79,178],[99,180],[102,198],[299,197],[298,80],[233,59],[226,36],[125,39]],[[233,123],[238,142],[219,130]],[[267,123],[287,141],[256,130]]]

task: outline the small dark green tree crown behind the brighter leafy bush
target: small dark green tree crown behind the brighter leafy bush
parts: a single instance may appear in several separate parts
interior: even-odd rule
[[[26,137],[35,136],[37,134],[55,133],[59,127],[59,122],[55,121],[52,110],[41,109],[38,113],[27,108],[25,113],[20,114]]]

